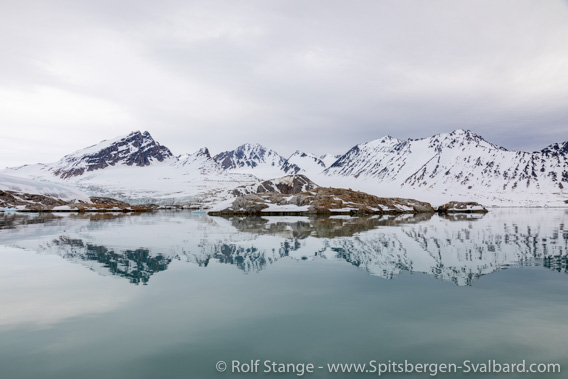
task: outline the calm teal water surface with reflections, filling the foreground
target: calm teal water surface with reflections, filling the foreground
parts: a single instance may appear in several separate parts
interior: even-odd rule
[[[566,372],[567,249],[560,209],[0,213],[0,378],[298,377],[215,368],[256,359],[324,367],[308,378],[376,377],[325,369],[373,360],[526,360]]]

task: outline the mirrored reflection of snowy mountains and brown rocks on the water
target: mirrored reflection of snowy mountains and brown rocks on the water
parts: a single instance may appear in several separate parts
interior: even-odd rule
[[[421,272],[471,285],[511,265],[542,262],[567,272],[566,219],[559,209],[369,218],[10,214],[0,218],[0,244],[58,254],[132,283],[147,283],[174,260],[258,272],[289,257],[346,261],[388,279]]]

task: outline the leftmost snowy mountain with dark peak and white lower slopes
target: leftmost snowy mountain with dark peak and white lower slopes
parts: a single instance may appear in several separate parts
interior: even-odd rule
[[[174,156],[150,133],[139,131],[102,141],[55,163],[10,168],[4,173],[32,179],[38,186],[55,182],[133,203],[184,203],[258,181],[252,175],[224,170],[207,148]]]

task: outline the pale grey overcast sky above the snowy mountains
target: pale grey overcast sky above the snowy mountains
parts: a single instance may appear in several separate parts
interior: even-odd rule
[[[568,140],[568,2],[1,1],[0,167],[132,130],[174,154]]]

